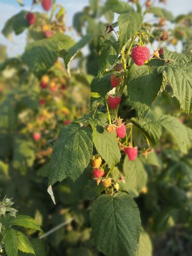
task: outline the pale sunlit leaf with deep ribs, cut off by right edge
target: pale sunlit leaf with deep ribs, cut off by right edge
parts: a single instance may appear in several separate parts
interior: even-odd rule
[[[157,70],[172,87],[173,96],[179,100],[181,109],[190,113],[192,111],[192,63],[169,64]]]

